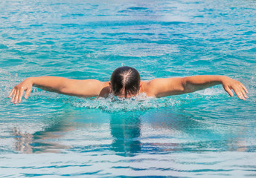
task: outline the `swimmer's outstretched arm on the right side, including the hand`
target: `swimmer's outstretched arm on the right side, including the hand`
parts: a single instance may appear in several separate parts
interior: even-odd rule
[[[183,93],[191,93],[196,90],[202,90],[214,85],[223,85],[225,91],[234,96],[231,90],[240,99],[245,100],[248,93],[246,87],[235,79],[228,76],[187,76],[180,78],[153,79],[146,85],[146,92],[150,96],[162,97]]]

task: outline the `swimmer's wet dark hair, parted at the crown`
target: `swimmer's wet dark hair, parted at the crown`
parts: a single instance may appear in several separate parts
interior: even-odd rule
[[[137,94],[140,90],[141,76],[135,68],[124,66],[118,67],[112,73],[111,89],[115,96],[124,90],[124,96]]]

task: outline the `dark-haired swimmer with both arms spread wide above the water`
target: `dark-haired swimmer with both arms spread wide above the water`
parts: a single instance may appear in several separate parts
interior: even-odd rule
[[[115,69],[109,82],[100,82],[96,79],[66,79],[57,76],[29,77],[16,85],[8,97],[12,97],[10,102],[20,103],[25,91],[25,99],[28,99],[33,86],[70,96],[107,97],[112,93],[115,96],[129,98],[138,93],[146,93],[147,96],[153,97],[179,95],[203,90],[214,85],[223,85],[230,96],[234,96],[236,93],[240,99],[247,98],[246,87],[228,76],[186,76],[159,78],[145,82],[141,81],[141,76],[135,68],[127,66]],[[231,90],[234,90],[234,93]]]

